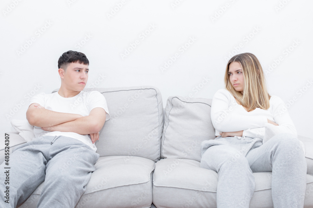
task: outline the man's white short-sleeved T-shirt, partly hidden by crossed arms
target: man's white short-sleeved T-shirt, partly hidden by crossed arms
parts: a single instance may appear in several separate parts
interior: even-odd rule
[[[88,116],[90,111],[96,107],[103,108],[106,112],[106,120],[110,119],[110,114],[108,106],[106,104],[105,97],[98,91],[84,92],[81,91],[74,97],[64,98],[59,95],[58,92],[52,94],[40,93],[34,95],[30,101],[29,105],[33,103],[38,103],[45,109],[60,112],[60,113],[71,113],[80,114],[82,116]],[[40,136],[66,136],[75,138],[88,146],[93,150],[97,150],[95,144],[92,143],[89,135],[81,135],[74,132],[49,132],[44,131],[42,128],[34,127],[35,138]]]

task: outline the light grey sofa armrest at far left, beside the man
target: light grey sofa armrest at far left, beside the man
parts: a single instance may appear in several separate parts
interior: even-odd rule
[[[26,141],[18,135],[17,132],[8,132],[9,135],[9,148],[10,148],[10,154],[21,144],[26,143]],[[3,163],[4,157],[5,157],[5,143],[4,143],[4,137],[3,140],[0,142],[0,164]]]

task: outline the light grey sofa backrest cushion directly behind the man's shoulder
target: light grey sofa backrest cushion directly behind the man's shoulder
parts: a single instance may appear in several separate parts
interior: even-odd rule
[[[152,86],[85,88],[97,90],[106,99],[110,113],[95,143],[103,156],[160,158],[163,132],[163,103],[159,89]]]

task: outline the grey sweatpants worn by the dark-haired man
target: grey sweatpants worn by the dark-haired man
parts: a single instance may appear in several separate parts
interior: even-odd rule
[[[9,166],[0,165],[0,207],[21,204],[43,181],[37,207],[75,207],[98,158],[74,138],[43,136],[27,142],[10,155]],[[3,170],[9,170],[9,185],[4,185]],[[4,202],[5,186],[9,186],[9,204]]]

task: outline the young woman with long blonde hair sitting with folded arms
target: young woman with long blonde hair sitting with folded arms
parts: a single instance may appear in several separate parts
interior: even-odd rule
[[[284,102],[267,92],[259,60],[233,56],[224,82],[211,107],[217,138],[201,144],[200,167],[218,173],[217,207],[249,207],[252,172],[272,172],[274,207],[303,207],[304,152]]]

